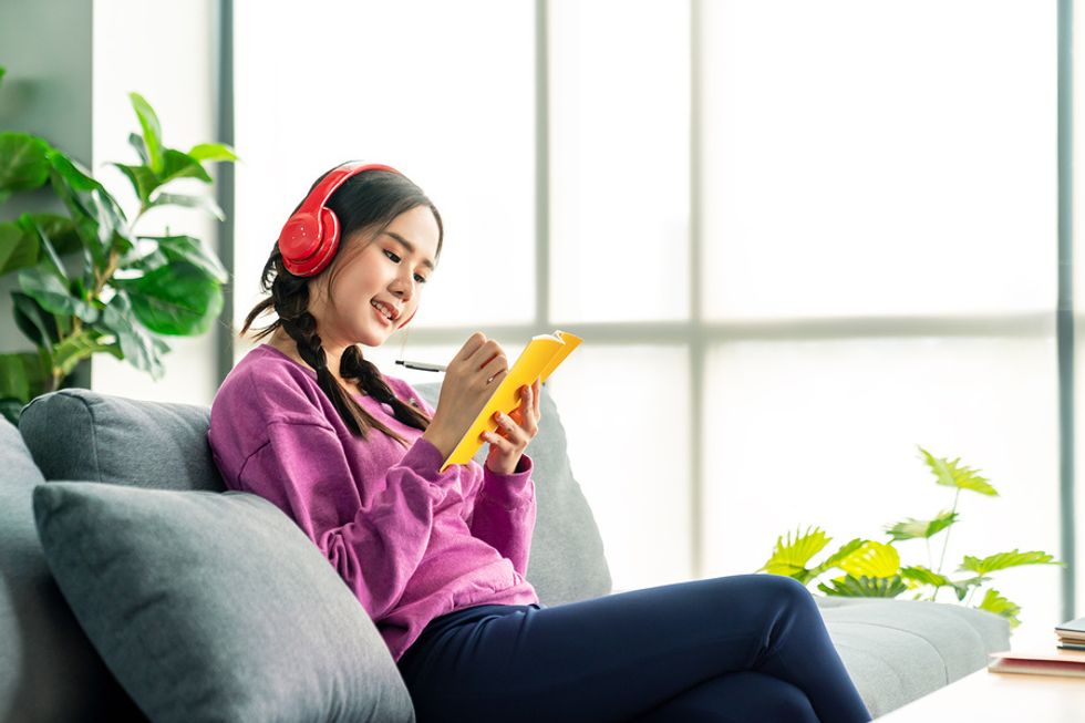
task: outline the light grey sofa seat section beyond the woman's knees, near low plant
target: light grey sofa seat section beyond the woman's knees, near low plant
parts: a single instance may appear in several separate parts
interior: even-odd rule
[[[815,596],[875,717],[968,675],[1010,648],[1002,616],[952,602]]]

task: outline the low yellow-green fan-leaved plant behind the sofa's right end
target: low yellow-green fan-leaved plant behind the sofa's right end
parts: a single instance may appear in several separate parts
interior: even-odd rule
[[[939,512],[931,519],[909,517],[887,525],[885,530],[889,539],[886,541],[864,538],[849,540],[817,565],[810,565],[810,560],[833,538],[827,537],[825,531],[816,526],[808,526],[806,531],[796,529],[794,538],[790,533],[787,533],[786,538],[776,538],[772,556],[755,571],[787,575],[805,585],[817,581],[820,591],[833,596],[895,598],[912,590],[914,591],[912,599],[933,601],[942,588],[948,588],[953,591],[959,602],[963,601],[969,606],[976,590],[992,579],[992,572],[1022,565],[1065,565],[1041,550],[1022,552],[1014,548],[1008,552],[996,552],[986,557],[965,555],[953,576],[943,572],[950,529],[960,517],[957,508],[961,493],[967,490],[989,496],[998,496],[999,493],[988,478],[980,476],[979,471],[961,465],[960,457],[951,461],[936,457],[923,447],[918,448],[920,457],[934,475],[934,481],[939,485],[957,490],[950,509]],[[942,551],[936,568],[931,554],[931,539],[942,533],[944,533]],[[926,543],[927,565],[901,565],[895,544],[906,540]],[[830,570],[838,572],[827,583],[818,580]],[[1011,628],[1021,624],[1017,618],[1021,607],[1003,597],[993,587],[986,589],[974,607],[1008,618]]]

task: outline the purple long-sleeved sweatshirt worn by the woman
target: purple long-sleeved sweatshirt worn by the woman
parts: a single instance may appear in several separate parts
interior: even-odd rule
[[[405,381],[395,395],[431,417]],[[434,618],[476,605],[529,605],[524,578],[535,529],[533,463],[509,475],[472,459],[438,473],[422,430],[372,396],[355,399],[403,435],[353,436],[317,374],[269,344],[250,350],[211,403],[211,447],[227,487],[265,497],[311,539],[381,631],[399,662]]]

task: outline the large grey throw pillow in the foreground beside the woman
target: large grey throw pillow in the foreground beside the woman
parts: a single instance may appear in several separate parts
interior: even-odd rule
[[[365,610],[262,497],[50,482],[33,510],[76,619],[152,720],[415,720]]]

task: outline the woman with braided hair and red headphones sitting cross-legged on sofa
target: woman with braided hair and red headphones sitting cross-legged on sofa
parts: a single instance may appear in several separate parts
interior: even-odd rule
[[[539,383],[498,421],[485,465],[442,463],[508,359],[471,335],[436,409],[384,375],[379,347],[436,270],[436,207],[394,168],[343,164],[294,209],[264,269],[278,319],[211,405],[227,485],[290,516],[389,645],[431,721],[869,721],[797,580],[736,575],[555,607],[525,578]]]

